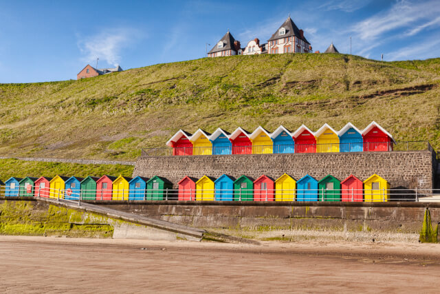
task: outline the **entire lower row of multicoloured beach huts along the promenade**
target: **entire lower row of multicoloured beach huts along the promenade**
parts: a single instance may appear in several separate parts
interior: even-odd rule
[[[4,184],[5,197],[34,196],[67,200],[228,200],[228,201],[388,201],[389,183],[377,174],[366,180],[351,175],[340,181],[328,175],[316,180],[308,174],[295,180],[287,174],[274,180],[260,176],[233,178],[223,174],[217,179],[186,176],[178,189],[166,178],[153,176],[56,176],[54,178],[15,178]]]

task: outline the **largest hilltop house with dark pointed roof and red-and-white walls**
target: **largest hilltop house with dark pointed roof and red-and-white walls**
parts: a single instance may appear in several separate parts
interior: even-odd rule
[[[267,44],[267,52],[271,54],[311,52],[311,45],[305,39],[304,31],[299,30],[290,17],[276,30]]]

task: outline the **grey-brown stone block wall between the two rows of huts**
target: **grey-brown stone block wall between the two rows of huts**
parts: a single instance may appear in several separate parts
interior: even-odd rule
[[[299,180],[309,174],[317,180],[331,174],[344,180],[351,174],[366,180],[378,174],[391,188],[432,189],[434,168],[431,151],[347,152],[322,154],[250,154],[212,156],[144,156],[133,171],[134,176],[162,176],[177,187],[184,176],[218,178],[228,174],[258,178],[265,174],[274,179],[289,174]]]

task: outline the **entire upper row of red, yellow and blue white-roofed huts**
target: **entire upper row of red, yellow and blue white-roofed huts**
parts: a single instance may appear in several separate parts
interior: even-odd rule
[[[347,123],[339,132],[327,123],[316,132],[305,125],[295,132],[281,125],[272,133],[261,126],[252,133],[238,127],[232,134],[221,128],[212,134],[179,129],[166,145],[173,155],[225,155],[392,151],[393,143],[393,136],[373,121],[362,131]]]

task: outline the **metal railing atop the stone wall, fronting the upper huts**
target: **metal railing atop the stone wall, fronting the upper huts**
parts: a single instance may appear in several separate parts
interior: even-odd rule
[[[213,146],[213,147],[161,147],[143,148],[141,156],[190,156],[190,155],[230,155],[230,154],[294,154],[362,151],[422,151],[434,152],[428,141],[400,142],[358,142],[328,144],[292,144],[292,145],[249,145],[249,146]]]

